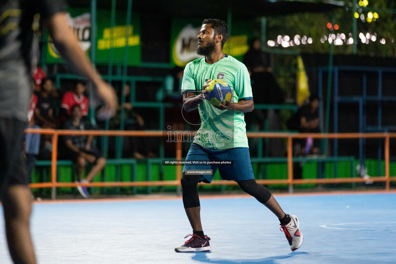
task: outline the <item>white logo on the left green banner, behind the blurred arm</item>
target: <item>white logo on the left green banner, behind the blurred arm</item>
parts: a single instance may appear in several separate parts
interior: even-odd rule
[[[73,28],[74,34],[80,40],[80,48],[86,52],[91,47],[91,14],[83,13],[76,17],[71,17],[70,13],[67,13],[69,26]],[[61,55],[53,44],[49,37],[48,51],[54,58],[60,58]]]

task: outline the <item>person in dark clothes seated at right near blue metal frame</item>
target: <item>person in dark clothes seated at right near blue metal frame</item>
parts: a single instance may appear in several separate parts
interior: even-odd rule
[[[309,97],[309,104],[301,107],[300,129],[301,133],[320,133],[319,129],[319,98],[316,95]],[[301,141],[301,154],[320,154],[319,139],[308,137]]]

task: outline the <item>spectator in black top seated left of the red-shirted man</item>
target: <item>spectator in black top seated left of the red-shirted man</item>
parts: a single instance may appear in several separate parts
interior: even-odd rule
[[[42,128],[56,128],[53,116],[54,99],[52,97],[52,81],[44,78],[40,87],[41,91],[37,94],[37,107],[34,110],[36,123]]]

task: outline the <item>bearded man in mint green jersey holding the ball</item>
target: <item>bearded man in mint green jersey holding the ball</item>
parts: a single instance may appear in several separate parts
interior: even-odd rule
[[[184,70],[182,95],[183,108],[187,112],[198,108],[201,127],[188,151],[186,161],[233,160],[233,165],[185,165],[181,186],[183,204],[192,227],[192,234],[178,252],[211,251],[210,238],[204,235],[200,217],[200,201],[197,184],[210,183],[219,169],[221,179],[234,180],[238,185],[263,203],[280,220],[290,249],[295,251],[303,243],[300,221],[295,215],[286,215],[274,196],[255,181],[250,163],[244,113],[254,108],[247,68],[222,49],[228,37],[227,24],[219,19],[205,19],[198,35],[198,55],[205,56],[187,64]],[[230,85],[231,100],[220,106],[212,106],[205,100],[205,88],[212,79],[221,79]],[[198,94],[198,95],[196,95]],[[211,175],[192,175],[188,170],[212,170]]]

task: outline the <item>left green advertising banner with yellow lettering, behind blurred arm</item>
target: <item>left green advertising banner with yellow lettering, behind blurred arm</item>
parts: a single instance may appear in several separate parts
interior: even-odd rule
[[[69,8],[69,25],[80,40],[82,51],[90,56],[91,49],[91,13],[89,8]],[[110,49],[113,50],[113,63],[122,64],[124,47],[128,45],[128,65],[137,66],[141,62],[140,48],[140,20],[139,14],[132,13],[131,25],[126,27],[126,12],[117,11],[113,36],[110,27],[111,12],[109,10],[97,10],[97,33],[96,33],[96,63],[109,63]],[[126,30],[129,30],[128,42],[126,41]],[[128,43],[128,44],[127,44]],[[49,38],[47,48],[47,63],[63,63],[59,52]]]

